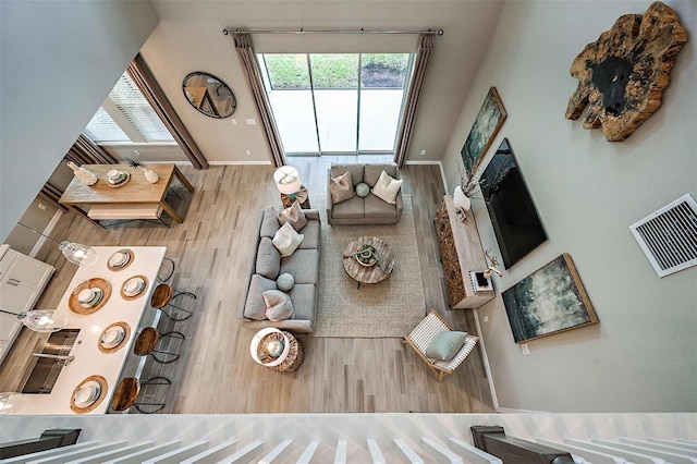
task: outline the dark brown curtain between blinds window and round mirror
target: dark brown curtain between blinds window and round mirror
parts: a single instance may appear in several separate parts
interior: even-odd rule
[[[184,123],[174,111],[172,103],[167,99],[164,91],[157,83],[147,63],[138,53],[129,64],[126,70],[135,85],[138,86],[143,96],[148,100],[155,112],[162,120],[164,126],[170,131],[180,148],[184,151],[188,160],[196,169],[208,169],[208,160],[204,157],[194,137],[188,133]]]

